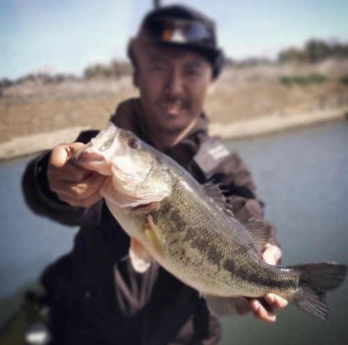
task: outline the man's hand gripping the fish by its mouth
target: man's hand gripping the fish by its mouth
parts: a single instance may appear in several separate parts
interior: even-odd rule
[[[56,146],[49,156],[47,178],[49,188],[56,192],[61,201],[71,206],[88,207],[102,199],[99,194],[105,177],[96,171],[76,167],[68,158],[82,143]]]

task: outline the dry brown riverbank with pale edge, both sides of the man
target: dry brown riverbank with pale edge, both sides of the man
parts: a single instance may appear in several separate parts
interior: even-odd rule
[[[284,76],[313,73],[325,79],[282,82]],[[348,87],[339,80],[346,74],[347,59],[227,68],[205,104],[210,133],[223,139],[253,137],[343,118]],[[0,97],[0,160],[71,142],[87,128],[100,130],[120,102],[138,96],[131,77],[13,84]]]

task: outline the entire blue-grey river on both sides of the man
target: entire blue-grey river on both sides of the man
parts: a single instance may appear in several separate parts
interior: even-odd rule
[[[348,264],[348,122],[228,141],[253,172],[265,217],[278,227],[283,264]],[[72,247],[77,229],[26,208],[20,178],[28,158],[0,164],[0,325],[19,306],[24,286]],[[341,345],[348,339],[348,281],[329,293],[329,323],[292,305],[272,325],[252,316],[223,319],[223,345]]]

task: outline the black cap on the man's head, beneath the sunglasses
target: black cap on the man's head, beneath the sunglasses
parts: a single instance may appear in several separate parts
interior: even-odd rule
[[[198,10],[188,6],[173,5],[152,10],[145,16],[141,27],[148,29],[148,31],[152,29],[152,33],[154,33],[153,29],[157,29],[156,24],[159,24],[161,20],[178,20],[192,24],[194,37],[193,39],[188,37],[187,40],[181,42],[177,40],[164,41],[160,36],[156,37],[153,34],[150,35],[152,40],[158,45],[184,47],[202,55],[212,65],[213,78],[216,79],[223,67],[224,57],[221,49],[217,47],[215,23]],[[199,38],[197,35],[200,35]]]

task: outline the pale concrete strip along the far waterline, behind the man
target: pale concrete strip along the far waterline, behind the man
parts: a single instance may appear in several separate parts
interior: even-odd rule
[[[315,123],[343,119],[347,114],[347,106],[338,109],[317,110],[306,114],[283,116],[276,114],[248,121],[230,123],[227,125],[211,123],[209,125],[209,132],[211,135],[223,139],[242,139],[245,137],[266,135],[291,128],[299,128]],[[6,143],[0,144],[0,160],[30,155],[47,150],[61,143],[72,142],[77,138],[81,130],[87,129],[88,127],[74,127],[27,137],[15,137]]]

